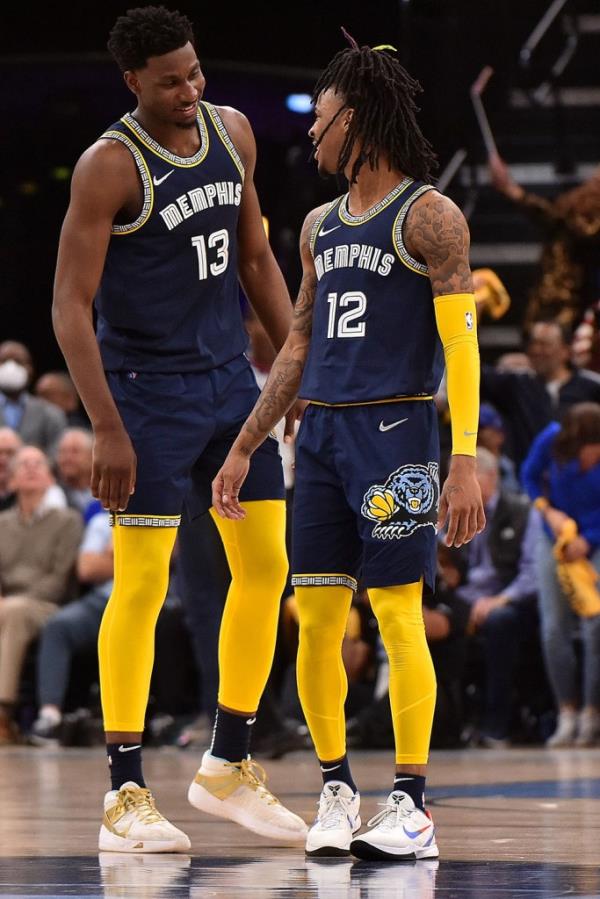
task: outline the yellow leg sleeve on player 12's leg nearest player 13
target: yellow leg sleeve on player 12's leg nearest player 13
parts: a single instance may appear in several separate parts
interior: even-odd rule
[[[342,640],[352,603],[349,587],[296,587],[300,638],[298,695],[320,761],[346,752],[348,679]]]

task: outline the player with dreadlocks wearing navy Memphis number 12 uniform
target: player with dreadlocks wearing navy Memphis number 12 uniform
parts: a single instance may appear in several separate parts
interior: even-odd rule
[[[309,855],[435,858],[425,810],[436,684],[423,589],[436,528],[461,546],[485,525],[475,478],[479,353],[462,213],[429,183],[420,89],[393,48],[351,46],[319,78],[309,136],[322,175],[348,192],[306,217],[292,328],[213,482],[220,515],[238,502],[250,458],[297,394],[309,401],[296,448],[293,583],[298,688],[323,774]],[[441,496],[433,394],[447,367],[453,455]],[[396,772],[361,834],[346,756],[341,644],[360,574],[390,663]],[[391,781],[391,778],[390,778]],[[357,834],[357,835],[355,835]]]

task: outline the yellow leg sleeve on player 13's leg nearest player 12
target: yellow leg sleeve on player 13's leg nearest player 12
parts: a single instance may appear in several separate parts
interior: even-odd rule
[[[231,571],[219,636],[219,704],[253,713],[273,664],[288,572],[285,501],[242,505],[242,521],[220,518],[211,509]]]

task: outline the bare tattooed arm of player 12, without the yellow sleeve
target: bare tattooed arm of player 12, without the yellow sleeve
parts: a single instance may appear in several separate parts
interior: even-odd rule
[[[267,383],[254,409],[242,426],[212,484],[213,505],[223,518],[244,518],[246,513],[240,506],[238,497],[248,474],[250,457],[298,395],[310,345],[312,310],[317,286],[309,239],[312,226],[324,208],[321,206],[310,212],[302,226],[300,235],[302,282],[294,306],[290,332],[273,363]]]

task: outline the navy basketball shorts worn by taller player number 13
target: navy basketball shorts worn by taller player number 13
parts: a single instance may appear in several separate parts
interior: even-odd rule
[[[137,456],[135,493],[121,525],[177,527],[212,505],[211,482],[252,410],[259,389],[245,356],[206,372],[108,372],[108,386]],[[279,446],[252,456],[240,502],[284,499]]]

